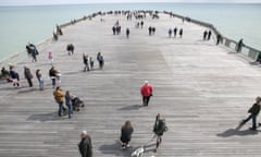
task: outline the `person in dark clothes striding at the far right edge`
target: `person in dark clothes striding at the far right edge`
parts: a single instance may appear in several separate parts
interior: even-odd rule
[[[250,119],[252,119],[252,128],[250,128],[250,130],[253,130],[253,131],[257,130],[257,116],[259,114],[259,111],[260,111],[260,102],[261,102],[261,97],[257,97],[256,102],[248,110],[248,112],[250,113],[249,117],[244,119],[240,122],[240,126],[243,126],[246,122],[248,122]]]

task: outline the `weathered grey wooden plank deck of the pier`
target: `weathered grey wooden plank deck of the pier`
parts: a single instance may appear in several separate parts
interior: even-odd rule
[[[145,28],[124,16],[105,16],[77,23],[64,29],[64,36],[40,51],[39,61],[17,64],[45,74],[46,89],[0,83],[0,156],[1,157],[77,157],[79,132],[92,138],[95,157],[127,157],[133,148],[152,136],[157,113],[166,119],[169,132],[157,157],[260,157],[259,132],[235,130],[247,116],[254,97],[260,95],[261,71],[214,41],[202,41],[206,28],[182,23],[161,14],[159,21],[147,19]],[[113,36],[116,20],[122,34]],[[156,26],[154,36],[148,26]],[[183,27],[183,38],[169,38],[170,27]],[[126,39],[125,28],[130,28]],[[75,55],[67,56],[67,44]],[[54,53],[54,67],[62,72],[62,88],[82,98],[86,107],[72,119],[58,118],[48,78],[48,51]],[[104,70],[83,72],[82,53],[92,58],[101,51]],[[154,87],[149,107],[140,108],[139,87],[148,80]],[[122,124],[134,125],[133,148],[121,150],[117,140]],[[154,147],[154,141],[151,148]]]

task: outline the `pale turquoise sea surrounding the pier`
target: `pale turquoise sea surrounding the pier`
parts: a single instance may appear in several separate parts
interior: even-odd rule
[[[213,24],[224,36],[261,50],[261,3],[104,3],[0,7],[0,61],[25,50],[27,43],[52,37],[57,24],[98,11],[158,10]],[[167,28],[166,28],[167,29]]]

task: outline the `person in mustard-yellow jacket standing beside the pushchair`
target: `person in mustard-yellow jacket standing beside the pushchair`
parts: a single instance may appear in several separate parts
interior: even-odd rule
[[[55,90],[53,92],[53,96],[55,101],[59,105],[59,110],[58,110],[58,116],[62,117],[62,111],[65,112],[66,108],[63,106],[63,98],[64,98],[64,93],[60,87],[57,87]]]

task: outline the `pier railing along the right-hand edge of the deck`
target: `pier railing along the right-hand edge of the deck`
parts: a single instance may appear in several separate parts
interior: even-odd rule
[[[164,12],[164,13],[169,14],[171,16],[179,17],[183,21],[191,22],[191,23],[195,23],[195,24],[198,24],[198,25],[201,25],[203,27],[207,27],[207,28],[211,29],[215,35],[215,37],[214,37],[215,40],[217,39],[217,35],[220,35],[221,36],[221,43],[220,44],[222,44],[223,46],[225,46],[226,48],[228,48],[232,51],[237,50],[238,43],[233,40],[233,39],[229,39],[229,38],[225,37],[224,35],[222,35],[212,24],[201,22],[201,21],[198,21],[198,20],[194,20],[194,19],[190,19],[190,17],[185,17],[185,16],[182,16],[182,15],[178,15],[178,14],[174,14],[172,12]],[[254,49],[250,46],[243,45],[240,51],[236,51],[236,52],[240,52],[244,56],[248,57],[250,60],[256,61],[261,51],[258,50],[258,49]]]

